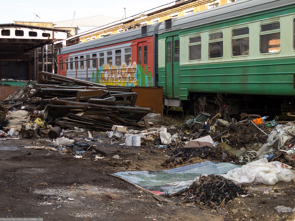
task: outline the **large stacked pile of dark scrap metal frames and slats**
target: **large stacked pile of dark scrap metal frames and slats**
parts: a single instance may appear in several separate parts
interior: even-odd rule
[[[105,86],[40,72],[37,84],[30,81],[1,105],[9,111],[8,114],[27,111],[26,122],[32,122],[32,125],[36,119],[42,121],[37,127],[27,125],[23,130],[30,131],[28,135],[35,135],[35,131],[49,123],[91,131],[110,130],[113,125],[142,129],[137,123],[153,109],[135,106],[136,98],[137,93],[132,92],[131,87]],[[2,126],[7,123],[1,122]]]

